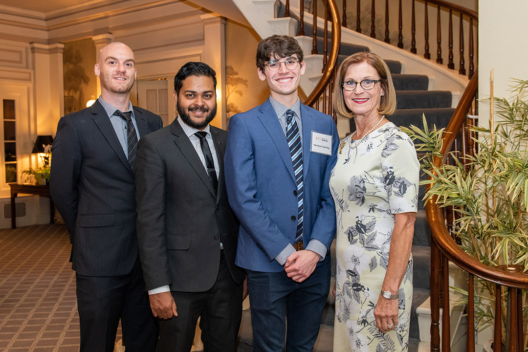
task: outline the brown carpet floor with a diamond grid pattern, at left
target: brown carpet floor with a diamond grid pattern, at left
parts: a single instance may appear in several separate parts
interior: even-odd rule
[[[64,225],[0,230],[0,351],[79,351],[70,249]]]

